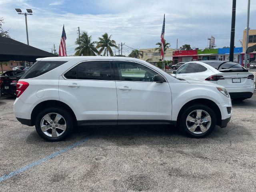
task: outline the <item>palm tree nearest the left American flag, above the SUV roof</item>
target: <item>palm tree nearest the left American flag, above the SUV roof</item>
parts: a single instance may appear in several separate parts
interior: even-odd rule
[[[87,32],[83,32],[80,38],[76,39],[75,44],[79,45],[75,48],[77,56],[96,56],[98,54],[95,47],[96,41],[92,42],[92,36],[88,36]]]

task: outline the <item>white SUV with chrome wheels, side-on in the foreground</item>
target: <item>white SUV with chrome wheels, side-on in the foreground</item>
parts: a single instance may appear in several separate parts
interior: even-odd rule
[[[148,62],[123,57],[41,58],[17,84],[15,116],[45,140],[74,126],[172,124],[204,137],[226,127],[231,99],[223,86],[175,78]]]

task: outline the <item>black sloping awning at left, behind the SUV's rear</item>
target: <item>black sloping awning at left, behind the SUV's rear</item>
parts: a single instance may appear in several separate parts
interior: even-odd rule
[[[37,58],[44,57],[56,57],[56,55],[11,38],[0,37],[0,61],[36,62]]]

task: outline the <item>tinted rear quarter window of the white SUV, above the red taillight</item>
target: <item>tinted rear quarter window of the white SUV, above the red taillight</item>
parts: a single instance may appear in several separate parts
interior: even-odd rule
[[[38,77],[64,63],[66,61],[38,61],[22,76],[22,79]]]

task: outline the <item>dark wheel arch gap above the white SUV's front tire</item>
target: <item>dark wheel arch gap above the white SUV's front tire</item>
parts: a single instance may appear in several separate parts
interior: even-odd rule
[[[203,105],[206,105],[206,106],[210,107],[214,111],[214,113],[216,114],[216,124],[218,126],[221,126],[222,119],[221,119],[220,108],[218,107],[218,105],[214,101],[212,101],[210,99],[204,99],[204,98],[190,100],[189,102],[184,104],[182,106],[182,108],[180,109],[179,113],[178,113],[177,123],[179,123],[180,116],[181,116],[182,112],[186,108],[188,108],[192,105],[195,105],[195,104],[203,104]]]

